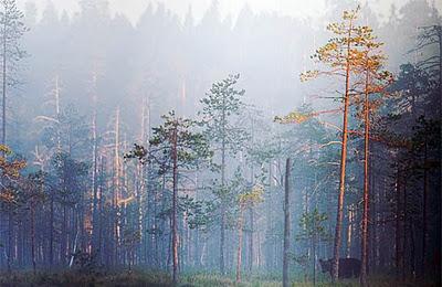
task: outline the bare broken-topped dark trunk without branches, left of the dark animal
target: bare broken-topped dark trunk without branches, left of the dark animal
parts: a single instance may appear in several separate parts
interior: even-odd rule
[[[290,240],[291,240],[291,159],[285,163],[285,192],[284,192],[284,251],[283,251],[283,287],[288,287]]]

